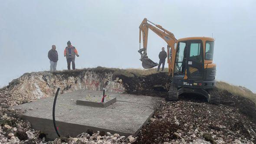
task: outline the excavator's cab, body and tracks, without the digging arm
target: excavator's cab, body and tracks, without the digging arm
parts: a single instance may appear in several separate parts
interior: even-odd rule
[[[182,93],[197,93],[208,102],[219,104],[215,90],[216,64],[213,63],[214,39],[188,37],[177,40],[174,72],[167,100],[177,100]]]

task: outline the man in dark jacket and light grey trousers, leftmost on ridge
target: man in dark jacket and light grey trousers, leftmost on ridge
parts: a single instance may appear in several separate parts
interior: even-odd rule
[[[48,52],[48,58],[50,59],[50,71],[55,72],[58,62],[58,52],[56,51],[56,46],[53,45],[52,49]]]

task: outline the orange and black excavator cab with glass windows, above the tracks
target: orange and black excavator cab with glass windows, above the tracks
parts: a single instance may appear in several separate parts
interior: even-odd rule
[[[216,75],[216,65],[213,64],[213,49],[213,38],[189,37],[178,39],[176,56],[173,59],[173,79],[201,81],[203,88],[213,88]],[[201,84],[199,83],[199,85]],[[183,86],[184,83],[179,80],[177,85]],[[191,83],[188,85],[191,85]]]

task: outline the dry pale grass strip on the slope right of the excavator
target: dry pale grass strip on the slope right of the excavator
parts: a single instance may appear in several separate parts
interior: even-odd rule
[[[229,83],[222,81],[217,82],[216,86],[221,90],[227,90],[233,95],[240,95],[249,98],[256,104],[256,94],[250,91],[248,88],[245,88],[243,86],[230,85]]]

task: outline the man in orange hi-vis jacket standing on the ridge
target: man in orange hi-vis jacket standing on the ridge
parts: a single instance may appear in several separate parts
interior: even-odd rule
[[[71,45],[70,41],[67,43],[67,47],[64,50],[64,56],[66,56],[68,69],[70,70],[70,63],[72,62],[72,69],[75,69],[75,56],[79,57],[77,50]]]

